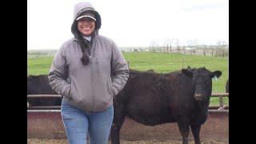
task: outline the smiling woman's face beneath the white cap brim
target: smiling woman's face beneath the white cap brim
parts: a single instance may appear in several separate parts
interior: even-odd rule
[[[95,29],[95,21],[91,18],[81,18],[78,20],[78,30],[85,36],[89,36]]]

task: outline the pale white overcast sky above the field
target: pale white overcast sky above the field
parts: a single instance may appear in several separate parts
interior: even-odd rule
[[[74,5],[90,2],[102,17],[99,34],[118,46],[150,46],[179,39],[229,42],[228,0],[27,0],[27,49],[59,49],[73,37]]]

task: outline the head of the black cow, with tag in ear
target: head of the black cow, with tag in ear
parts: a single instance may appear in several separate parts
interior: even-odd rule
[[[182,69],[182,73],[191,77],[194,85],[194,98],[197,101],[210,100],[212,90],[212,78],[220,77],[222,71],[211,72],[205,67],[198,69]]]

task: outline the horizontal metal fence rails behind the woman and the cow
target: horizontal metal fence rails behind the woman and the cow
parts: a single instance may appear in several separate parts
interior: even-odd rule
[[[210,110],[228,110],[229,106],[224,106],[223,97],[228,97],[229,93],[213,93],[211,97],[219,98],[219,106],[209,106]],[[44,101],[58,100],[61,102],[62,96],[58,94],[28,94],[28,101],[43,99]],[[28,110],[60,110],[61,106],[31,106],[27,107]]]

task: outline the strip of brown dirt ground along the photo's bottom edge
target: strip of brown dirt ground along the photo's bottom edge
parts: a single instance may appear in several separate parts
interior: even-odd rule
[[[38,139],[29,138],[27,139],[28,144],[68,144],[66,139]],[[123,141],[121,144],[181,144],[182,141]],[[190,141],[190,144],[194,144],[194,141]],[[111,144],[111,142],[109,142]],[[217,141],[202,141],[202,144],[228,144],[228,142],[217,142]]]

